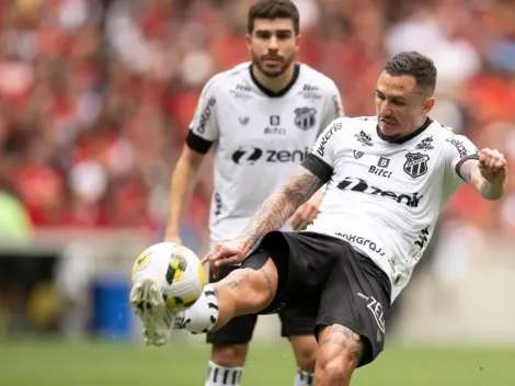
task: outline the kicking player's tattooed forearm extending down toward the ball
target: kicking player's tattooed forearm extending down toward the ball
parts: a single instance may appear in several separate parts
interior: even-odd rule
[[[261,205],[241,236],[254,245],[266,232],[279,229],[295,211],[323,184],[324,181],[321,181],[311,171],[298,167],[289,181]]]

